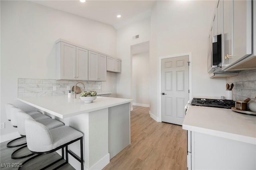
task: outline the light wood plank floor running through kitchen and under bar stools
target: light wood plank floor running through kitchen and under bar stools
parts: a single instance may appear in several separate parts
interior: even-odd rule
[[[148,114],[148,107],[133,106],[131,112],[131,145],[122,150],[104,170],[186,170],[187,133],[182,126],[154,121]],[[21,163],[27,158],[13,160],[11,153],[16,148],[6,148],[1,143],[1,170],[18,168],[3,167],[6,163]],[[23,153],[29,151],[24,149]],[[60,158],[56,152],[39,156],[22,169],[37,170]],[[62,163],[62,162],[60,162]],[[56,164],[56,166],[58,166]],[[54,167],[56,167],[54,166]],[[48,170],[54,168],[50,167]],[[67,164],[62,170],[74,170]]]

